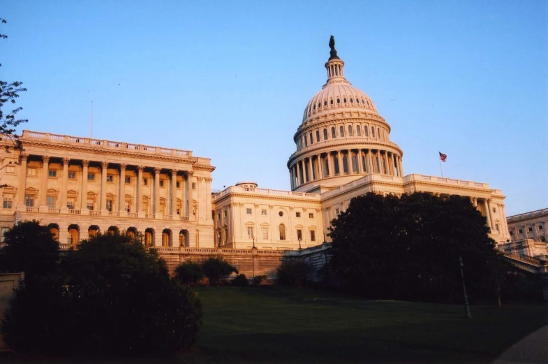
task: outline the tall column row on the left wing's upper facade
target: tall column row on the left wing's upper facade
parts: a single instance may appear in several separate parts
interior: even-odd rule
[[[27,161],[29,159],[29,155],[22,155],[21,159],[21,173],[20,173],[20,183],[19,188],[17,191],[17,209],[22,210],[31,210],[38,212],[56,212],[56,211],[50,211],[50,210],[59,210],[59,212],[67,212],[67,213],[76,213],[76,214],[100,214],[100,215],[109,215],[109,214],[115,214],[117,216],[128,216],[128,212],[126,212],[126,205],[125,205],[125,190],[126,190],[126,168],[128,165],[125,163],[110,163],[107,161],[89,161],[89,160],[80,160],[80,159],[69,159],[69,158],[62,158],[61,162],[63,165],[63,173],[60,176],[60,191],[59,195],[61,197],[61,203],[57,204],[54,208],[47,206],[47,189],[48,189],[48,179],[49,179],[49,170],[50,170],[50,156],[40,156],[42,159],[42,172],[39,175],[40,178],[40,188],[38,189],[38,209],[36,209],[35,206],[26,206],[26,194],[27,194]],[[56,160],[59,160],[59,158],[54,158]],[[72,209],[68,209],[67,206],[67,198],[68,198],[68,166],[71,164],[73,166],[75,163],[71,163],[71,161],[75,161],[75,163],[80,164],[82,175],[81,175],[81,185],[80,185],[80,191],[78,194],[78,200],[79,203],[72,206]],[[101,166],[101,187],[100,187],[100,204],[99,204],[99,210],[98,211],[89,211],[87,208],[87,194],[88,194],[88,171],[89,171],[89,165],[90,163],[99,164]],[[110,210],[108,210],[107,206],[107,170],[109,166],[112,168],[116,168],[119,172],[119,186],[116,187],[117,191],[117,211],[113,211],[112,207]],[[164,171],[164,168],[160,167],[152,167],[152,166],[132,166],[137,171],[137,181],[135,183],[136,187],[136,196],[135,200],[136,203],[133,204],[133,207],[135,209],[135,212],[130,212],[130,216],[132,217],[152,217],[156,219],[185,219],[188,220],[189,214],[191,213],[191,207],[190,202],[192,201],[192,187],[191,187],[191,177],[193,175],[193,171],[191,170],[177,170],[175,168],[168,170],[168,173],[171,176],[171,194],[168,196],[167,200],[169,201],[169,208],[167,214],[161,214],[160,213],[160,175],[162,174],[162,171]],[[143,171],[147,170],[154,170],[154,188],[151,189],[151,200],[153,203],[151,203],[151,206],[153,207],[152,214],[148,214],[143,212],[143,188],[144,188],[144,182],[143,182]],[[182,210],[179,214],[177,214],[177,175],[182,175],[184,186],[182,188],[183,195],[184,195],[184,206],[182,206]],[[210,181],[211,179],[209,179]],[[60,205],[60,208],[58,206]],[[77,212],[71,212],[69,210],[75,210]]]

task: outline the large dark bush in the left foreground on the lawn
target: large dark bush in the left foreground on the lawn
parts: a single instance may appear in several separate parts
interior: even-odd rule
[[[69,251],[60,268],[17,290],[1,324],[15,351],[170,354],[197,339],[200,300],[170,280],[154,249],[100,234]]]

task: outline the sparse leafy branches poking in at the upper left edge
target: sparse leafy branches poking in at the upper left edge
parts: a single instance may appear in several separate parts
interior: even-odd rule
[[[6,24],[6,20],[0,18],[0,24]],[[0,39],[6,39],[6,34],[0,34]],[[0,63],[0,67],[2,64]],[[8,138],[9,143],[6,143],[6,152],[10,153],[13,150],[22,152],[22,143],[19,140],[19,136],[15,133],[19,124],[25,123],[27,119],[17,119],[17,112],[22,110],[21,107],[13,108],[9,112],[4,110],[4,106],[7,104],[14,105],[16,99],[19,97],[20,92],[27,91],[22,87],[23,82],[20,81],[3,81],[0,80],[0,140],[1,138]],[[2,167],[3,168],[3,167]],[[1,169],[1,168],[0,168]],[[4,186],[1,186],[4,187]]]

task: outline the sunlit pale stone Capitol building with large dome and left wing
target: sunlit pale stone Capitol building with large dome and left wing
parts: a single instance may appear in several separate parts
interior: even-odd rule
[[[61,245],[117,231],[142,233],[148,245],[172,251],[296,250],[329,242],[329,221],[356,196],[425,191],[470,196],[487,218],[491,238],[510,239],[500,189],[404,175],[403,151],[390,139],[390,124],[350,84],[333,39],[329,45],[327,82],[306,104],[293,136],[290,190],[240,182],[212,193],[214,166],[189,150],[23,131],[23,152],[1,161],[2,236],[14,222],[37,219]]]

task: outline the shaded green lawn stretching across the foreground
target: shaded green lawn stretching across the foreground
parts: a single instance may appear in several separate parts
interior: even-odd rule
[[[264,287],[200,287],[193,363],[491,363],[547,324],[547,307],[366,301]]]

